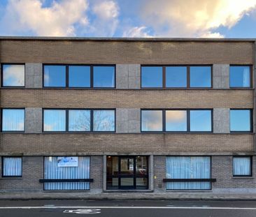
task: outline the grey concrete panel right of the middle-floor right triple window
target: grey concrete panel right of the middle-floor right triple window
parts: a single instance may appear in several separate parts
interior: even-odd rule
[[[230,133],[229,130],[229,109],[213,109],[213,133]]]

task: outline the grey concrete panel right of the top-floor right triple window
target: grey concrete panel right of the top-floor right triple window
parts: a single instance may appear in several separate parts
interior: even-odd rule
[[[213,88],[229,89],[228,64],[213,64]]]

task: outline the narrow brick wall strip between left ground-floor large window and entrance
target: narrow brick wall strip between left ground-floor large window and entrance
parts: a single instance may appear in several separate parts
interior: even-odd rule
[[[94,181],[90,184],[90,191],[102,192],[104,174],[103,156],[91,156],[90,160],[90,179],[94,179]]]

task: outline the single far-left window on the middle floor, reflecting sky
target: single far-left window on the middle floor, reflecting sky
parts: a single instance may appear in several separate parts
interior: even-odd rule
[[[24,109],[2,110],[2,132],[24,132]]]

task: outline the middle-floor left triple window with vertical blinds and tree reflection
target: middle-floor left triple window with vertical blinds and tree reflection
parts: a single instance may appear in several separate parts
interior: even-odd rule
[[[115,132],[115,110],[43,110],[44,132]]]

